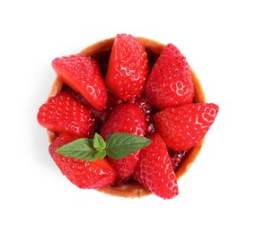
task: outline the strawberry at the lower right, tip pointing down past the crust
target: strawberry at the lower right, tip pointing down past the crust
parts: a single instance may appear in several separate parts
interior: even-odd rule
[[[140,150],[133,176],[153,194],[170,199],[179,194],[172,161],[159,134],[148,138],[152,142]]]

